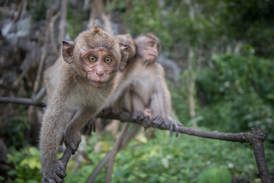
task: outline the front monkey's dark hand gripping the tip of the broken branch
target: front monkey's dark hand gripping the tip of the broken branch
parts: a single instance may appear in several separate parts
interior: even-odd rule
[[[80,142],[81,142],[80,131],[70,130],[70,128],[67,128],[64,135],[64,143],[66,147],[68,145],[71,147],[72,155],[74,155],[75,152],[77,151]]]

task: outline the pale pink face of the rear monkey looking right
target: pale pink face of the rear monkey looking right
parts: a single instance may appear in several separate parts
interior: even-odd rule
[[[155,61],[159,56],[160,45],[153,39],[148,39],[146,42],[146,49],[143,50],[142,56],[147,61]]]

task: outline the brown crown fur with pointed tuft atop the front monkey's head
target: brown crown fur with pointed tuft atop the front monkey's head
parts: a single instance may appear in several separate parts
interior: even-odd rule
[[[74,50],[80,50],[82,47],[87,47],[91,50],[103,47],[111,51],[118,59],[121,57],[120,45],[115,37],[99,28],[96,24],[92,29],[81,32],[74,43],[75,46],[79,47],[79,49],[75,47]]]

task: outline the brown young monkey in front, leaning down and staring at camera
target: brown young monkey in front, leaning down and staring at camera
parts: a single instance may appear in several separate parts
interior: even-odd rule
[[[74,42],[63,41],[62,56],[44,73],[48,94],[40,133],[42,182],[63,183],[65,165],[57,159],[69,113],[78,106],[66,126],[64,142],[72,154],[81,141],[80,129],[95,116],[113,94],[127,48],[96,25],[80,33]]]

